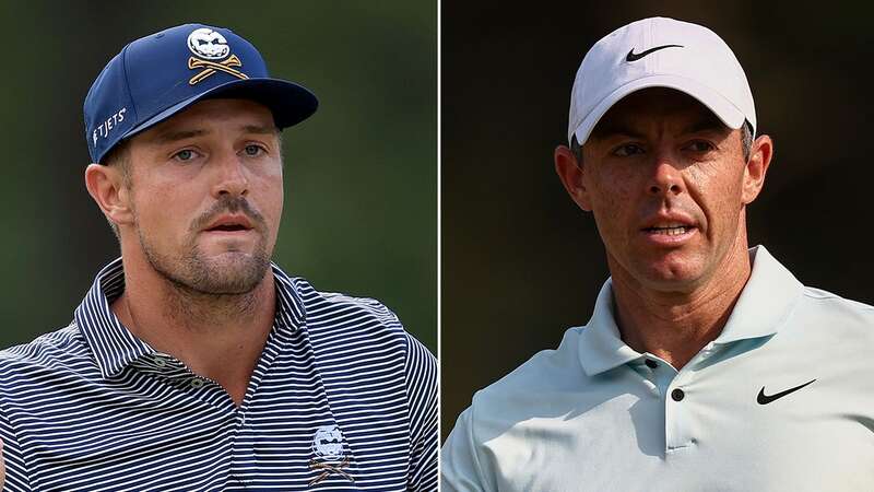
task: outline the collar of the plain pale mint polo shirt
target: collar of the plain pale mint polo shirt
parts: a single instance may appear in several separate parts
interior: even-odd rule
[[[753,271],[714,344],[771,336],[782,326],[800,298],[803,285],[765,246],[749,249]],[[619,337],[613,316],[613,282],[598,294],[594,313],[580,333],[579,359],[589,376],[640,359]]]

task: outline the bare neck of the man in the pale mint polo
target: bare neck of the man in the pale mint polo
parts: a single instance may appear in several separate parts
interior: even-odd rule
[[[722,332],[751,271],[745,241],[729,251],[708,282],[690,292],[647,289],[611,260],[614,312],[623,341],[680,370]]]

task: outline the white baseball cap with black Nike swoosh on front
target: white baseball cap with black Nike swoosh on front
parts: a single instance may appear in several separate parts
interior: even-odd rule
[[[586,54],[570,93],[568,142],[576,134],[586,143],[614,104],[646,87],[684,92],[729,128],[749,121],[755,134],[753,93],[729,45],[707,27],[651,17],[619,27]]]

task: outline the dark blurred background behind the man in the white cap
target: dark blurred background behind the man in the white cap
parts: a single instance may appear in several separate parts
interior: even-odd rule
[[[805,284],[874,303],[872,7],[861,2],[444,0],[442,434],[476,389],[588,321],[607,278],[591,215],[565,192],[570,87],[586,51],[642,17],[704,24],[728,42],[776,142],[748,210]],[[815,8],[813,7],[815,5]]]

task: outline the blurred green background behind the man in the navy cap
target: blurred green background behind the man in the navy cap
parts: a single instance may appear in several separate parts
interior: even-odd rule
[[[0,345],[66,326],[118,246],[88,197],[82,102],[129,42],[203,22],[319,97],[284,133],[274,255],[317,289],[382,301],[436,353],[435,1],[0,2],[5,232]]]

